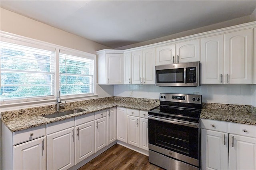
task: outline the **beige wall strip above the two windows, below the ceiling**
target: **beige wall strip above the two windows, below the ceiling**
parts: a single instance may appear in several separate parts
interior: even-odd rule
[[[92,54],[96,54],[95,51],[100,49],[110,49],[3,8],[0,8],[0,30]]]

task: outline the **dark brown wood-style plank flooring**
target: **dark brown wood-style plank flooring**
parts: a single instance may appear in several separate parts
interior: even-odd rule
[[[78,170],[162,170],[148,156],[115,144]]]

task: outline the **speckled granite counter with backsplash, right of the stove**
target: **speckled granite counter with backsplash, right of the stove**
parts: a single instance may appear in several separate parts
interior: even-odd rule
[[[255,107],[217,103],[204,103],[203,107],[200,118],[256,125]]]

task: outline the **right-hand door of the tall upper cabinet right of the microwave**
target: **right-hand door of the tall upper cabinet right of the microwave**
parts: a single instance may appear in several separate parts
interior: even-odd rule
[[[252,83],[252,29],[224,34],[224,83]]]

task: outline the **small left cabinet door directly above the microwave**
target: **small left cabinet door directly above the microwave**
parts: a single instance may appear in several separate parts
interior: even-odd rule
[[[175,44],[156,47],[156,65],[175,63]]]

